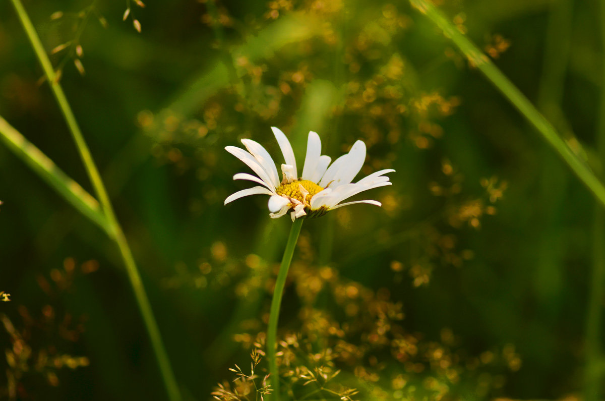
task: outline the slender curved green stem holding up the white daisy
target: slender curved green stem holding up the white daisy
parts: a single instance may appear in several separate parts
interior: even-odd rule
[[[277,360],[275,359],[275,353],[277,350],[277,322],[280,319],[281,297],[284,294],[284,286],[286,285],[288,269],[290,268],[290,262],[292,262],[292,255],[294,254],[296,240],[298,240],[298,234],[301,232],[301,227],[302,219],[294,220],[292,223],[292,228],[290,229],[290,235],[288,236],[284,257],[281,259],[280,271],[277,274],[277,279],[275,280],[275,290],[273,290],[271,311],[269,313],[269,328],[267,328],[266,348],[267,359],[269,360],[269,372],[271,374],[273,400],[275,401],[280,400],[280,374],[277,368]]]

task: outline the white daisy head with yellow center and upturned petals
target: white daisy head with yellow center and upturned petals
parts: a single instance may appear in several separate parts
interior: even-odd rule
[[[347,154],[338,157],[330,165],[332,159],[329,156],[321,155],[319,135],[310,131],[302,176],[298,177],[296,159],[290,141],[278,128],[271,127],[271,129],[280,145],[281,153],[284,154],[285,164],[281,165],[281,180],[269,152],[251,139],[242,139],[241,142],[248,151],[235,146],[227,146],[225,150],[243,161],[257,176],[238,173],[233,176],[233,179],[258,182],[262,187],[238,191],[225,199],[225,205],[240,197],[267,194],[270,196],[270,216],[281,217],[292,210],[290,213],[292,221],[304,216],[321,216],[329,210],[352,204],[381,206],[378,200],[355,200],[341,203],[360,192],[391,185],[384,174],[395,171],[392,168],[376,171],[358,182],[351,182],[364,165],[364,142],[355,142]]]

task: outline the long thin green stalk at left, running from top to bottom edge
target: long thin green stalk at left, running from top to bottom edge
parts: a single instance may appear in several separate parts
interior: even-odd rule
[[[25,33],[27,33],[27,36],[31,42],[31,46],[33,47],[34,52],[38,57],[38,61],[42,65],[42,69],[44,70],[44,74],[47,78],[48,83],[50,84],[54,97],[56,98],[57,103],[59,104],[59,108],[65,118],[65,121],[67,122],[67,126],[71,132],[71,136],[73,137],[74,142],[76,142],[77,149],[80,153],[80,157],[82,158],[82,162],[88,173],[88,177],[90,178],[90,181],[93,184],[94,191],[96,192],[97,197],[99,198],[99,203],[107,219],[109,228],[108,235],[111,237],[111,239],[114,240],[114,242],[116,242],[116,245],[119,248],[120,256],[122,257],[122,260],[126,267],[126,271],[128,273],[128,277],[130,279],[134,295],[136,297],[139,309],[143,316],[143,321],[145,322],[149,338],[151,339],[151,344],[155,353],[155,357],[157,358],[160,373],[162,374],[162,378],[166,386],[166,392],[168,393],[168,397],[171,401],[180,400],[181,397],[178,390],[178,385],[175,380],[174,373],[172,373],[168,354],[166,353],[166,350],[162,343],[160,330],[157,326],[157,322],[155,322],[155,317],[151,310],[151,304],[149,303],[149,299],[145,292],[145,287],[143,287],[140,273],[139,270],[137,270],[137,266],[134,262],[134,258],[132,257],[128,242],[126,242],[122,227],[120,227],[120,224],[114,214],[113,207],[111,206],[109,196],[107,195],[107,191],[105,190],[105,185],[103,185],[99,170],[97,170],[97,167],[94,164],[93,157],[90,154],[90,150],[88,150],[86,142],[84,141],[82,131],[80,131],[80,127],[77,124],[73,111],[71,111],[71,107],[67,101],[67,98],[65,97],[65,93],[59,85],[57,76],[54,73],[50,59],[48,59],[46,51],[42,46],[42,42],[40,41],[36,30],[31,24],[30,18],[27,15],[27,12],[25,12],[25,8],[21,4],[21,0],[11,0],[11,2],[15,7],[16,13],[19,17],[19,20],[21,21],[21,24],[23,25]]]

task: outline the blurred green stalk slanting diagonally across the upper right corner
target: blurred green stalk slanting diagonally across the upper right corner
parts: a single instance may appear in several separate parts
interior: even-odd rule
[[[476,45],[463,35],[443,13],[428,0],[410,0],[411,5],[426,15],[446,38],[450,39],[473,63],[489,82],[494,85],[520,111],[523,116],[537,129],[542,138],[557,152],[567,167],[594,194],[601,207],[605,207],[605,187],[589,167],[578,157],[557,133],[551,123],[529,102],[528,98],[509,81],[493,62]]]

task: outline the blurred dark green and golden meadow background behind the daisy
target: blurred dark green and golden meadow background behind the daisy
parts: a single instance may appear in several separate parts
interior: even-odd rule
[[[382,208],[305,222],[283,300],[283,334],[338,354],[353,399],[581,399],[595,202],[534,128],[407,2],[208,1],[132,2],[125,22],[124,2],[24,2],[49,53],[68,43],[51,61],[184,399],[245,370],[266,328],[291,223],[265,197],[223,205],[249,172],[223,148],[252,138],[277,161],[270,126],[299,168],[313,130],[332,159],[362,139],[364,174],[396,169],[368,195]],[[436,3],[598,171],[597,2]],[[42,75],[1,2],[0,115],[93,193]],[[4,145],[0,199],[0,398],[165,399],[114,244]]]

